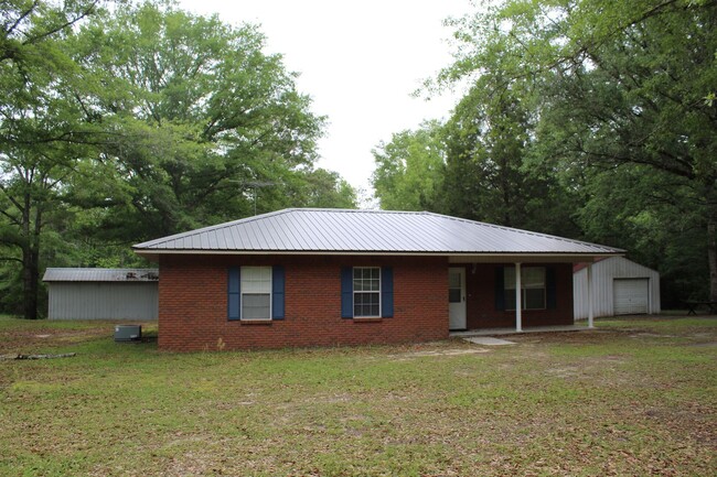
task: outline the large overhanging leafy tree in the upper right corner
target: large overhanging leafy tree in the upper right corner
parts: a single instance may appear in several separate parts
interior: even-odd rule
[[[509,0],[456,23],[465,47],[440,80],[500,72],[488,89],[522,91],[553,169],[644,165],[687,187],[717,300],[715,24],[709,0]]]

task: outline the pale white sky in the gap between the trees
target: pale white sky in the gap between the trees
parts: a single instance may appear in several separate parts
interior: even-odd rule
[[[425,119],[448,117],[458,99],[413,97],[424,79],[451,63],[449,17],[469,0],[180,0],[184,10],[217,13],[229,24],[259,24],[265,53],[280,53],[300,74],[299,91],[328,117],[318,166],[371,192],[371,150]],[[365,199],[365,197],[364,197]]]

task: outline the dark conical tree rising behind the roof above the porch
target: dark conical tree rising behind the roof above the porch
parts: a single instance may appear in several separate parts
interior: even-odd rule
[[[534,115],[522,91],[494,73],[478,79],[446,126],[445,209],[449,214],[549,234],[577,234],[566,191],[534,161]],[[499,73],[500,76],[500,73]]]

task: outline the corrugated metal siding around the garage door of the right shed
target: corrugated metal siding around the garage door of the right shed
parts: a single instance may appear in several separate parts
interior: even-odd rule
[[[622,257],[611,257],[592,264],[592,313],[595,317],[614,314],[614,280],[649,279],[648,313],[660,313],[660,273]],[[588,317],[588,270],[572,275],[575,319]]]

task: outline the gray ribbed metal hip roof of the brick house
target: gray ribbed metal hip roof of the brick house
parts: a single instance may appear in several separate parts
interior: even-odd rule
[[[428,212],[290,208],[138,243],[158,253],[619,254],[623,250]]]

